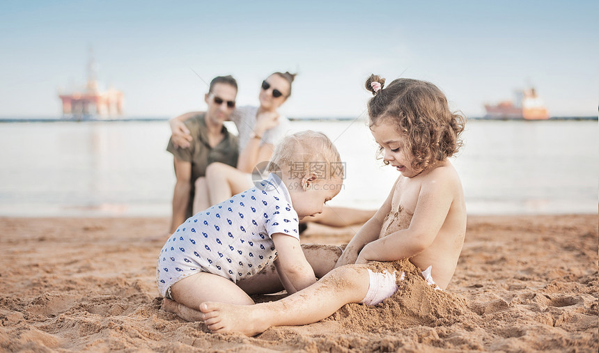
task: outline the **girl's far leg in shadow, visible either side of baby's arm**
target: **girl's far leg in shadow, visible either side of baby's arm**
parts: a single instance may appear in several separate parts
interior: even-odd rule
[[[302,250],[319,279],[334,269],[342,252],[339,246],[320,244],[302,244]],[[249,279],[239,281],[238,285],[249,295],[276,293],[284,289],[274,265],[265,267]]]

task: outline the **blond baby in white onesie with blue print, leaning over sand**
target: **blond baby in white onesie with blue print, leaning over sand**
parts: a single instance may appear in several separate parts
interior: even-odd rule
[[[254,304],[236,283],[271,262],[289,293],[316,283],[299,244],[298,223],[321,213],[323,204],[339,194],[341,166],[325,134],[287,136],[274,150],[266,180],[190,217],[166,241],[157,265],[163,306],[199,310],[204,301]]]

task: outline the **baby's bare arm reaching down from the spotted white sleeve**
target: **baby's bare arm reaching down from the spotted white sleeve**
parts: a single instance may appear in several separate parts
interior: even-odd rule
[[[277,249],[277,260],[274,260],[274,266],[288,294],[316,283],[314,270],[306,260],[297,238],[283,233],[274,233],[272,242]]]

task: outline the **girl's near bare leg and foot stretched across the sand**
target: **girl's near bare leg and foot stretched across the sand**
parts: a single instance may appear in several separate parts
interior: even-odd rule
[[[338,267],[317,283],[279,301],[249,306],[202,303],[203,320],[212,332],[241,332],[255,336],[272,326],[311,324],[332,315],[341,306],[357,303],[368,292],[364,265]]]

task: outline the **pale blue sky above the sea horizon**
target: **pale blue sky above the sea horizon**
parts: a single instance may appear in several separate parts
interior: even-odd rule
[[[205,109],[204,81],[223,74],[257,105],[275,71],[298,74],[290,117],[363,114],[371,73],[431,81],[466,116],[530,85],[552,116],[597,116],[598,13],[596,0],[2,0],[0,117],[59,116],[90,48],[131,117]]]

